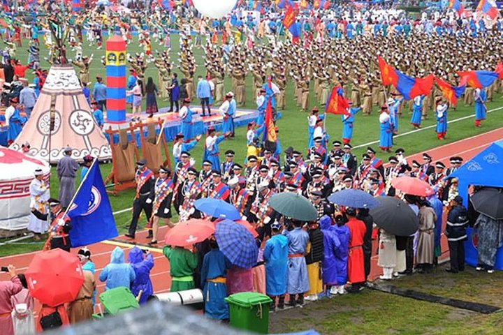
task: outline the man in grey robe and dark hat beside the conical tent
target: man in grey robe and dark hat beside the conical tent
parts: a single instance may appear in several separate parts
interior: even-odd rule
[[[71,157],[71,147],[66,147],[63,154],[64,156],[59,160],[56,170],[59,178],[59,201],[61,201],[61,206],[66,208],[75,193],[75,172],[77,172],[79,165]]]

